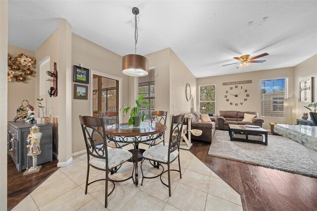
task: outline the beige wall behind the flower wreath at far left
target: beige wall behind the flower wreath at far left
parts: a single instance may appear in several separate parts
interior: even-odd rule
[[[12,56],[17,56],[20,53],[24,53],[29,55],[32,58],[35,58],[35,52],[22,49],[20,47],[8,45],[8,54]],[[36,61],[37,63],[38,61]],[[36,68],[36,71],[38,69]],[[21,74],[21,71],[15,71],[15,75]],[[39,75],[35,75],[39,77]],[[28,76],[28,80],[26,83],[23,82],[15,82],[14,79],[11,82],[7,82],[8,84],[8,121],[13,121],[13,118],[16,114],[16,109],[21,106],[21,102],[23,100],[29,101],[29,104],[34,107],[35,113],[37,114],[38,111],[38,104],[35,102],[34,92],[35,92],[35,84],[36,84],[36,77]],[[24,106],[26,106],[26,102],[24,102]]]

